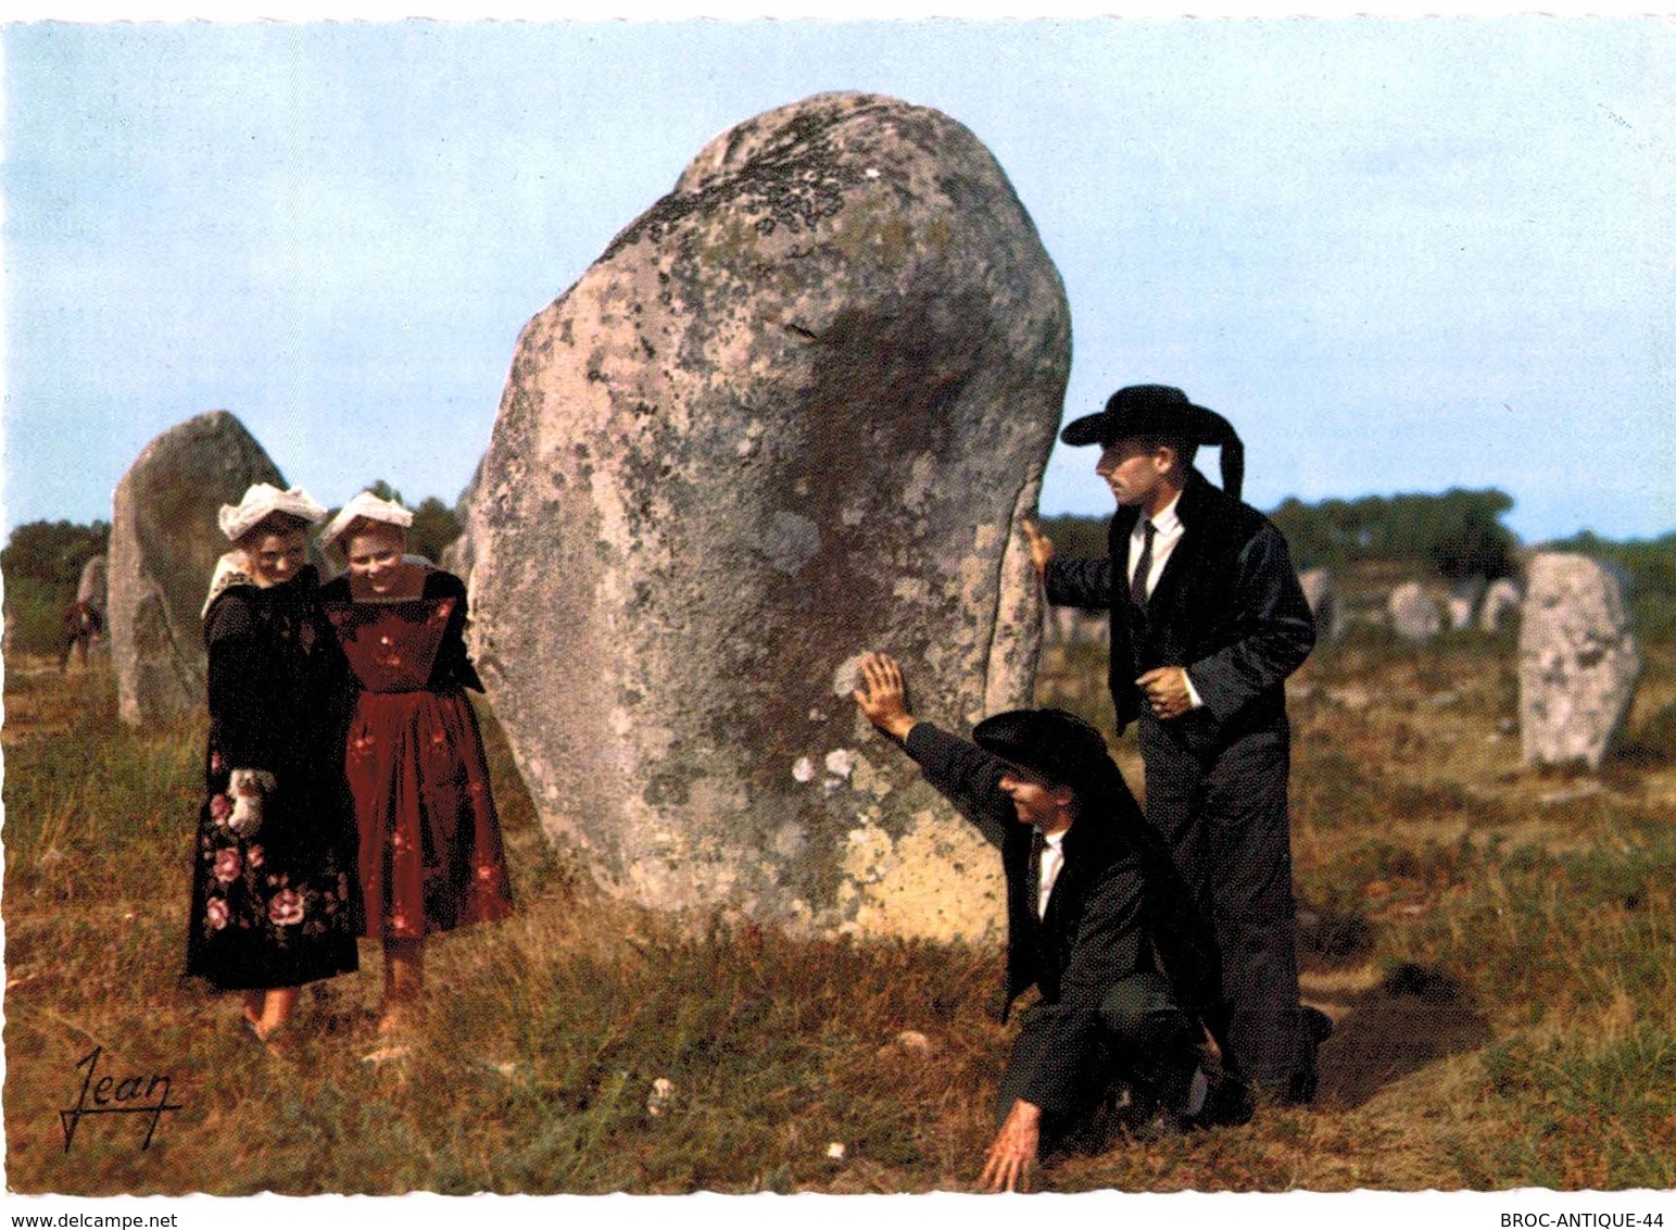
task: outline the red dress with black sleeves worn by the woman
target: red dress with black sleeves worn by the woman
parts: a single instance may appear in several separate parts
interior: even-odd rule
[[[327,618],[360,684],[345,773],[360,829],[365,933],[406,940],[513,910],[501,826],[476,714],[461,689],[466,592],[432,571],[422,598],[349,602],[323,588]]]

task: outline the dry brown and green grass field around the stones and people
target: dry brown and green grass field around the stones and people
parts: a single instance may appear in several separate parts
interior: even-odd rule
[[[1054,652],[1041,699],[1110,726],[1091,654]],[[679,932],[603,900],[541,838],[489,722],[520,913],[432,945],[437,1010],[411,1059],[360,1062],[365,947],[359,975],[305,992],[300,1054],[278,1059],[233,1000],[176,982],[203,719],[129,731],[107,669],[7,665],[13,1191],[970,1186],[1011,1036],[989,1016],[997,952]],[[1676,699],[1671,667],[1654,655],[1641,727]],[[1304,994],[1337,1022],[1319,1104],[1128,1143],[1042,1186],[1676,1186],[1669,759],[1522,769],[1508,645],[1473,637],[1322,650],[1292,717]],[[149,1148],[141,1116],[107,1116],[65,1151],[94,1047],[101,1074],[169,1078],[181,1109]]]

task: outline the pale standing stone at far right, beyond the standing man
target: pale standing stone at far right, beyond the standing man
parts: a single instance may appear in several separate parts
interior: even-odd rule
[[[1530,560],[1518,625],[1518,729],[1527,764],[1601,767],[1636,699],[1641,649],[1627,583],[1584,555]]]

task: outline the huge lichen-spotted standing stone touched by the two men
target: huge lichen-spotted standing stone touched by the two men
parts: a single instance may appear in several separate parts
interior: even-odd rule
[[[712,141],[523,330],[468,493],[473,650],[543,826],[623,897],[979,937],[992,851],[850,697],[1029,704],[1019,519],[1069,312],[989,151],[826,94]]]

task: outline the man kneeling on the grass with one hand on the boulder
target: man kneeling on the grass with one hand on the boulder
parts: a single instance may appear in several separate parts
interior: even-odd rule
[[[1037,1155],[1103,1150],[1120,1124],[1150,1136],[1249,1118],[1232,1083],[1210,1088],[1203,1026],[1183,1007],[1213,994],[1213,950],[1099,732],[1021,709],[967,742],[908,712],[893,659],[868,655],[861,680],[866,719],[1001,850],[1007,1012],[1041,992],[1019,1017],[979,1183],[1021,1190]]]

